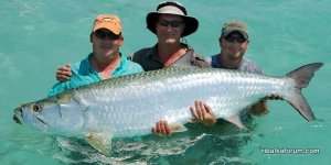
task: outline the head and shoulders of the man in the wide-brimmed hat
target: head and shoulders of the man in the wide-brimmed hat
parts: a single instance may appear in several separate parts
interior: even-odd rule
[[[190,58],[188,65],[210,67],[194,50],[180,40],[194,33],[199,21],[188,15],[185,8],[175,1],[166,1],[158,6],[157,11],[146,16],[147,29],[156,34],[158,43],[136,52],[131,58],[148,70],[160,69],[173,65],[181,58]]]

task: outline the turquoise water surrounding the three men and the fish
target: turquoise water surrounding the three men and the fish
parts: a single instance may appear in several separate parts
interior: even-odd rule
[[[287,102],[269,101],[270,112],[255,118],[253,131],[229,124],[171,138],[119,139],[105,157],[81,139],[51,136],[12,121],[22,102],[46,96],[57,66],[90,52],[89,32],[103,12],[120,15],[126,55],[151,46],[156,37],[145,16],[156,0],[4,0],[0,7],[0,160],[1,164],[330,164],[331,153],[331,2],[329,0],[181,1],[200,20],[186,41],[206,56],[220,52],[217,37],[226,20],[247,23],[246,56],[268,75],[323,62],[303,95],[319,121],[307,122]],[[261,148],[317,148],[318,154],[264,154]]]

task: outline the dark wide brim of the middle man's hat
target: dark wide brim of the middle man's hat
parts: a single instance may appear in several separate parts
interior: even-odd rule
[[[150,30],[152,33],[157,34],[156,30],[156,22],[158,21],[159,14],[173,14],[179,15],[174,13],[159,13],[159,12],[150,12],[146,16],[146,23],[147,29]],[[185,23],[185,29],[183,31],[182,36],[188,36],[192,33],[194,33],[199,28],[199,21],[195,18],[189,16],[189,15],[179,15],[183,18],[183,21]]]

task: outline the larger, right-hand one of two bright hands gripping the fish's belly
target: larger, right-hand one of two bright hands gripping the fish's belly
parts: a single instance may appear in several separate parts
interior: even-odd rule
[[[216,123],[215,114],[213,113],[210,106],[205,105],[202,101],[194,101],[194,105],[195,109],[193,107],[190,107],[190,110],[197,122],[209,127]]]

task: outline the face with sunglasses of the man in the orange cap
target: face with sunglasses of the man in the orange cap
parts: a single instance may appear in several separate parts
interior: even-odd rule
[[[108,57],[119,53],[124,37],[115,35],[109,30],[100,29],[90,34],[90,42],[96,56]]]

